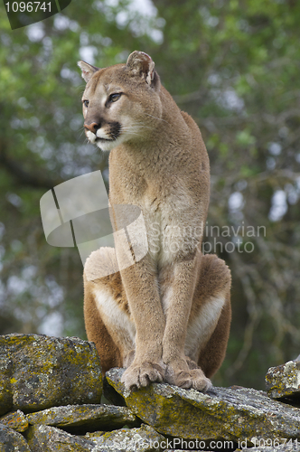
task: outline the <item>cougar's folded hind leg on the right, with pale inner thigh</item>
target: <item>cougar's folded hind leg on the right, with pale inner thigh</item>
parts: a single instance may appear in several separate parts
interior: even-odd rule
[[[217,372],[230,334],[230,269],[215,255],[202,256],[187,328],[185,354],[190,369],[198,364],[205,376]]]

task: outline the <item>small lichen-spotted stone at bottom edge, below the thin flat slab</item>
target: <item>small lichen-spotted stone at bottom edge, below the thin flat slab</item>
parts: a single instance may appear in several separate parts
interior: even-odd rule
[[[154,428],[142,425],[141,428],[122,428],[104,435],[93,435],[96,447],[92,452],[159,452],[165,438]]]

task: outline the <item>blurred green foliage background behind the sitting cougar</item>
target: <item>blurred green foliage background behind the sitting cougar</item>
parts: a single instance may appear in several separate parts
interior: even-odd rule
[[[218,238],[233,275],[233,326],[216,381],[262,388],[266,365],[295,358],[300,344],[300,4],[152,7],[140,14],[129,0],[73,1],[12,31],[0,5],[0,333],[84,337],[80,258],[46,243],[39,200],[107,168],[107,155],[85,143],[77,61],[106,67],[143,50],[201,127],[211,158],[209,224],[266,228],[244,234],[243,252],[226,251],[234,234]]]

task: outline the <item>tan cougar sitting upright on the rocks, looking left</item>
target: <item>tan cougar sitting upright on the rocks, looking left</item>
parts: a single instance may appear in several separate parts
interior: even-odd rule
[[[144,259],[104,278],[96,278],[99,268],[117,269],[122,261],[118,240],[116,251],[100,249],[87,260],[88,338],[103,372],[127,367],[123,381],[129,389],[167,381],[206,391],[229,337],[230,270],[201,253],[210,165],[200,130],[176,106],[144,52],[102,70],[79,65],[87,81],[86,135],[111,150],[114,228],[119,229],[114,205],[138,206],[149,246]]]

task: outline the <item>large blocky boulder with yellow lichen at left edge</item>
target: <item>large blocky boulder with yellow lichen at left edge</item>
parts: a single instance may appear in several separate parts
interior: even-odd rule
[[[0,381],[0,415],[99,403],[102,394],[96,347],[76,337],[0,336]]]

